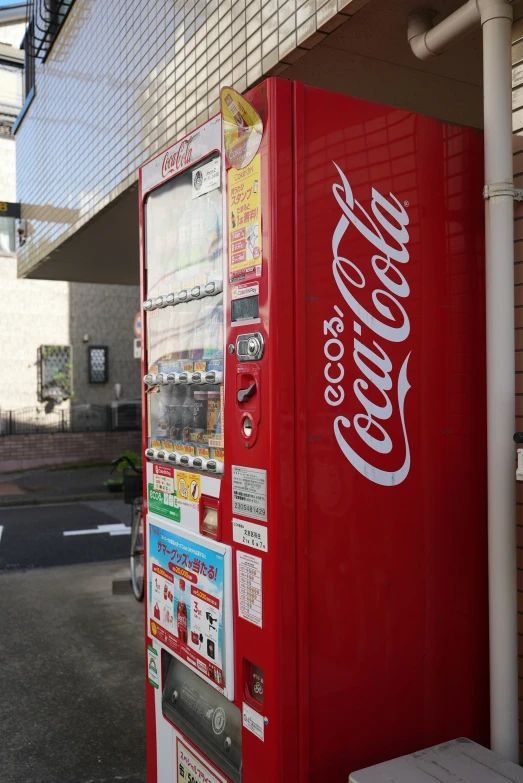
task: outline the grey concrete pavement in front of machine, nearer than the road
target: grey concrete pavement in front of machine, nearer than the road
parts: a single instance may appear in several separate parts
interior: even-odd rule
[[[1,783],[145,783],[143,604],[127,562],[0,573]]]

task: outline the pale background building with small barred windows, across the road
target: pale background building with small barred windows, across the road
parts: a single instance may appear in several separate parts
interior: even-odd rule
[[[0,9],[0,202],[17,201],[13,125],[24,100],[20,44],[27,13],[26,4]],[[51,118],[46,125],[51,133]],[[33,173],[37,170],[35,166]],[[19,239],[24,241],[23,225],[2,216],[0,208],[0,409],[4,414],[23,408],[49,413],[57,407],[53,373],[63,380],[64,371],[68,388],[61,389],[62,406],[69,404],[69,391],[74,406],[110,403],[116,398],[115,384],[121,387],[120,397],[137,400],[140,363],[133,353],[133,320],[138,289],[18,278],[16,251]],[[93,347],[94,373],[89,371]],[[32,416],[24,414],[26,420]]]

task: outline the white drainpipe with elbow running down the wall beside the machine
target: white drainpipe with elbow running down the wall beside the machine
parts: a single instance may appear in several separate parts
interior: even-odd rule
[[[409,17],[409,42],[420,59],[441,54],[477,24],[483,29],[490,733],[492,749],[517,762],[512,7],[509,0],[469,0],[435,27],[432,17]]]

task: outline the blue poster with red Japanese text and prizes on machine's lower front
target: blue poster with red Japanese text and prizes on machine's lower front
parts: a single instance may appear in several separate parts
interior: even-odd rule
[[[151,635],[222,690],[224,573],[220,552],[149,525]]]

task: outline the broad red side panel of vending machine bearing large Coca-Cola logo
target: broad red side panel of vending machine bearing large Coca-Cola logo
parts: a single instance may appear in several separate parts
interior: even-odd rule
[[[295,102],[301,779],[342,783],[488,743],[482,136]]]

